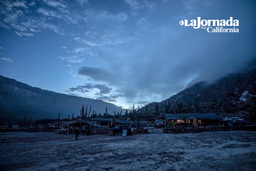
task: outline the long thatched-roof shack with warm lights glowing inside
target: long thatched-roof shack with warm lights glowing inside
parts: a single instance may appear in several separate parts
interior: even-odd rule
[[[165,125],[169,123],[176,123],[176,124],[184,124],[184,120],[182,120],[183,114],[164,114],[163,122]],[[206,126],[206,125],[219,125],[221,117],[219,117],[215,113],[187,113],[184,114],[187,116],[186,123],[189,125],[195,126]]]

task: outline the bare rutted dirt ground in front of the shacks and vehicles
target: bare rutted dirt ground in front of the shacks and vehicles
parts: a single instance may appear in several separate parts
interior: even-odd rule
[[[256,170],[256,132],[0,133],[0,170]]]

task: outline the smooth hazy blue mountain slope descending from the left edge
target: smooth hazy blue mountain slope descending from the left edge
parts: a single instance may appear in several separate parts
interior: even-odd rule
[[[107,107],[108,113],[121,111],[112,103],[101,100],[76,97],[31,87],[15,79],[0,76],[0,121],[24,119],[55,119],[60,113],[61,118],[80,115],[82,106],[92,106],[92,111],[103,114]],[[89,113],[89,109],[87,111]]]

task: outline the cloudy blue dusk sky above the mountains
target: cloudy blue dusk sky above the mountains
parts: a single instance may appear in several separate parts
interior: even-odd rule
[[[254,0],[1,0],[0,75],[122,108],[161,101],[255,57],[255,9]],[[232,17],[238,32],[179,24],[198,17]]]

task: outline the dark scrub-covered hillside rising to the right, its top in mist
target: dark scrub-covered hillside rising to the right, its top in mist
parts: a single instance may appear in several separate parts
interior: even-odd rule
[[[217,113],[222,117],[246,117],[256,106],[256,62],[237,73],[217,79],[213,83],[197,82],[185,90],[167,99],[170,108],[165,108],[165,101],[159,102],[159,112],[181,113]],[[177,103],[178,102],[178,103]],[[156,103],[148,104],[149,112],[156,112]],[[144,111],[145,107],[142,108]]]

